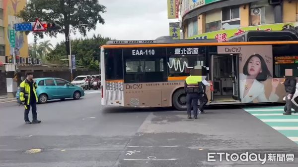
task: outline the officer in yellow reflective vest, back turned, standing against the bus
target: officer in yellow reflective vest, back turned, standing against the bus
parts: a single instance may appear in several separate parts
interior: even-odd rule
[[[206,76],[202,76],[201,69],[191,69],[190,76],[185,79],[184,89],[186,92],[186,105],[188,119],[191,117],[191,109],[194,110],[194,119],[198,116],[198,100],[204,94],[204,88],[202,81]]]

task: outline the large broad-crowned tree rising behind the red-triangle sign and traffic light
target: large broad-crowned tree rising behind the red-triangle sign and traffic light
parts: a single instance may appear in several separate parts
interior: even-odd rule
[[[70,25],[74,27],[86,24],[86,26],[76,27],[80,34],[86,36],[86,31],[95,30],[98,22],[104,24],[104,19],[99,13],[104,13],[105,8],[98,3],[98,0],[30,0],[17,16],[25,22],[34,22],[39,18],[41,21],[59,24],[62,27],[61,30],[45,33],[50,37],[56,37],[58,33],[64,34],[66,52],[69,55]],[[43,38],[43,33],[34,33],[34,37]]]

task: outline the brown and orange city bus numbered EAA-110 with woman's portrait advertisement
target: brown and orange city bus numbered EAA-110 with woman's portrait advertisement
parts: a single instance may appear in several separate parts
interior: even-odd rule
[[[207,69],[213,83],[207,105],[283,102],[285,70],[298,77],[298,41],[254,39],[109,41],[101,46],[101,104],[186,110],[192,68]]]

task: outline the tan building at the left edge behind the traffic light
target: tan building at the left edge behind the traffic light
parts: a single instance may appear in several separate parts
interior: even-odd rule
[[[11,23],[23,22],[15,15],[26,5],[27,0],[0,0],[0,61],[5,63],[5,56],[13,55],[9,44],[9,30]],[[28,57],[28,41],[24,32],[15,32],[15,54],[19,57]]]

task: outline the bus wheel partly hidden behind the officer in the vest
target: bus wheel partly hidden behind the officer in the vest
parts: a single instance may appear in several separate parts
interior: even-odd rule
[[[179,89],[174,93],[172,103],[177,110],[186,110],[186,94],[184,89]]]

